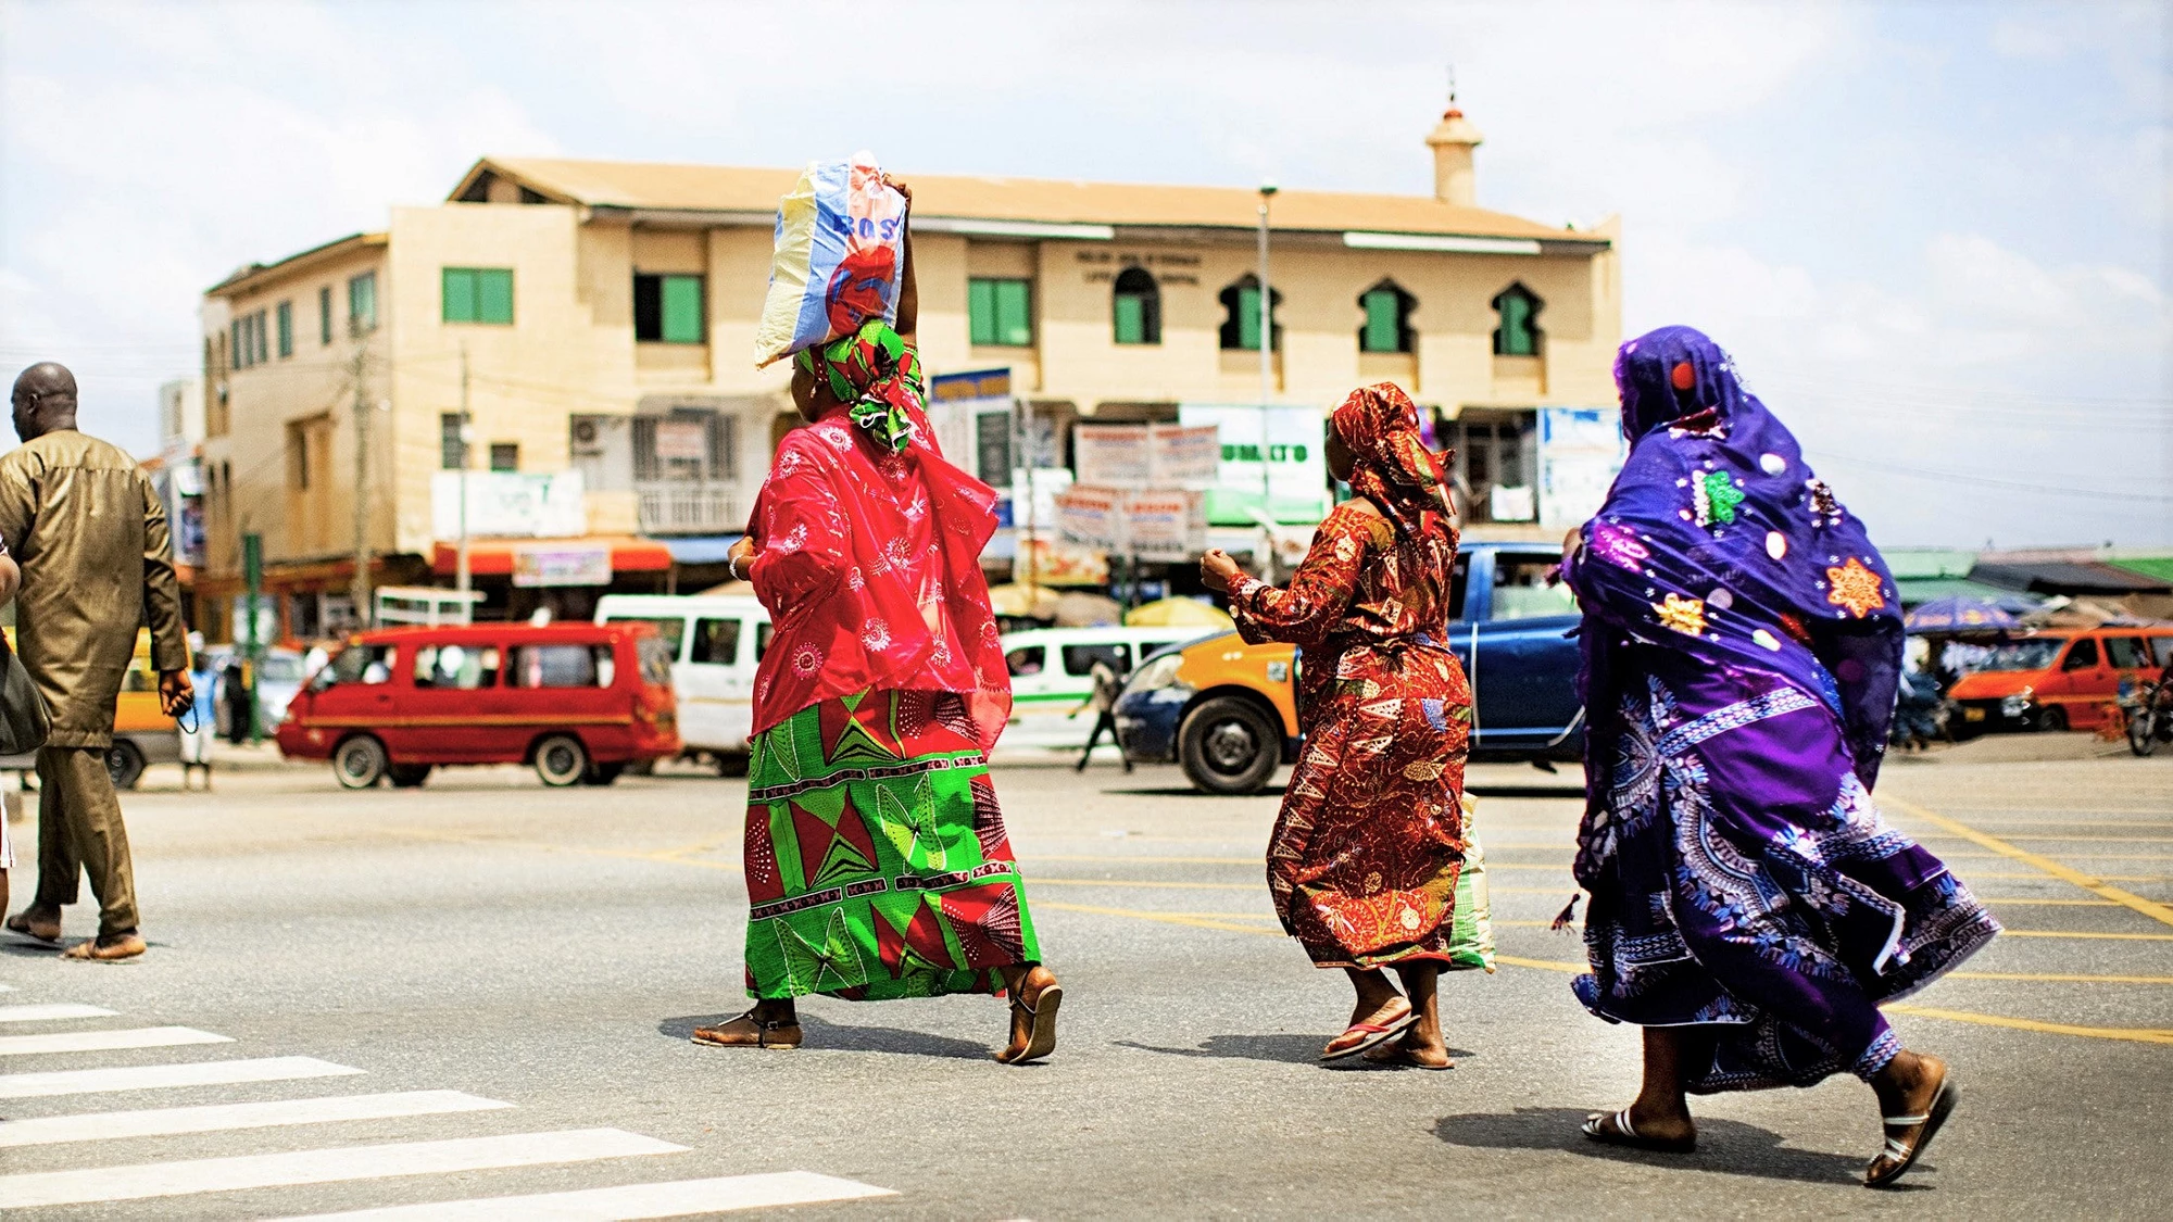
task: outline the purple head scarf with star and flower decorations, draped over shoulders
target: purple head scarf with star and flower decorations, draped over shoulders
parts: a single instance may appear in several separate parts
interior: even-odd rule
[[[1662,326],[1623,344],[1615,383],[1630,459],[1569,570],[1586,709],[1617,707],[1623,641],[1773,672],[1841,718],[1871,785],[1901,672],[1886,561],[1704,333]],[[1593,750],[1608,748],[1604,722],[1593,718]]]

